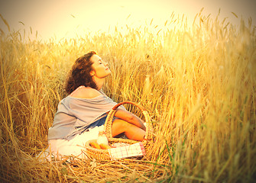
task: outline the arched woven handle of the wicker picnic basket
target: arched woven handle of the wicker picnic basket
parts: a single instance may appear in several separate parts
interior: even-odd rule
[[[151,124],[151,118],[149,117],[149,114],[147,113],[147,111],[145,110],[144,107],[141,106],[141,104],[137,104],[133,101],[123,101],[121,103],[118,103],[116,104],[111,111],[109,111],[109,114],[105,120],[105,126],[104,126],[104,131],[106,133],[106,136],[108,138],[112,138],[112,120],[113,120],[113,117],[115,115],[115,112],[116,110],[118,109],[119,106],[121,106],[122,104],[133,104],[134,106],[138,107],[142,114],[144,114],[144,117],[145,117],[145,123],[146,123],[146,133],[145,133],[145,140],[151,140],[153,139],[153,136],[152,136],[152,124]]]

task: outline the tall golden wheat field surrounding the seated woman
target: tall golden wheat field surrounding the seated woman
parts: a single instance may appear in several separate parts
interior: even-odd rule
[[[170,24],[177,24],[169,28]],[[5,22],[6,26],[8,23]],[[253,182],[256,174],[256,35],[197,14],[192,27],[25,40],[1,34],[1,182]],[[32,30],[31,30],[32,33]],[[27,35],[27,34],[26,34]],[[75,59],[91,50],[109,62],[104,92],[151,115],[155,143],[142,160],[40,162],[47,129]],[[136,108],[129,111],[143,115]]]

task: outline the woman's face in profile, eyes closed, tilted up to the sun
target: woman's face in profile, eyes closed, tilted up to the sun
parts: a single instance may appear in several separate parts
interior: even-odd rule
[[[108,67],[109,63],[105,63],[98,55],[93,55],[91,57],[91,61],[93,69],[91,72],[92,77],[95,76],[99,79],[102,79],[111,74],[111,71]]]

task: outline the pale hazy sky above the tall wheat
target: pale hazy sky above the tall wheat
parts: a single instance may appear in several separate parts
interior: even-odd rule
[[[256,25],[256,0],[0,0],[0,14],[11,30],[24,30],[30,27],[42,40],[50,37],[76,37],[88,31],[108,31],[116,25],[138,27],[140,24],[164,26],[170,15],[183,14],[193,21],[204,8],[203,14],[211,14],[214,19],[221,9],[221,18],[237,24],[241,16],[248,22],[251,17]],[[238,15],[235,18],[234,12]],[[23,24],[21,24],[21,21]],[[0,28],[8,32],[0,19]]]

